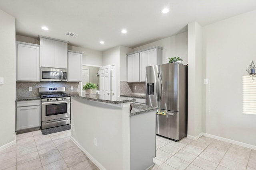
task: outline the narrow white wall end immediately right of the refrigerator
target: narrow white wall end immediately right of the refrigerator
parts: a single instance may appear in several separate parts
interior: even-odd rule
[[[188,24],[188,135],[202,133],[202,27]]]

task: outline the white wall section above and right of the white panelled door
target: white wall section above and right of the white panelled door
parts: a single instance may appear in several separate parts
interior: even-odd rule
[[[116,96],[120,95],[120,46],[103,51],[103,66],[116,66]]]

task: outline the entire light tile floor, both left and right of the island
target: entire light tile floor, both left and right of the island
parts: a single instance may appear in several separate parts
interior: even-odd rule
[[[99,170],[70,135],[70,130],[16,135],[17,144],[0,150],[0,170]],[[256,150],[208,137],[179,142],[156,138],[150,170],[256,170]]]

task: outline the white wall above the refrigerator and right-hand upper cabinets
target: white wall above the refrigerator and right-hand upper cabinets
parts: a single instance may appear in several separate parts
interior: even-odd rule
[[[153,43],[149,43],[146,45],[142,45],[140,47],[136,47],[133,50],[138,51],[142,49],[146,49],[148,47],[160,46],[163,47],[163,64],[168,63],[171,57],[180,57],[183,59],[183,64],[188,63],[188,32],[180,33],[177,35],[173,35],[171,37],[167,37],[164,39],[160,39]]]

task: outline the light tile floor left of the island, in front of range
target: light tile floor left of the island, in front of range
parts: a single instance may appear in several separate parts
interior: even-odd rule
[[[0,150],[0,170],[99,170],[70,140],[71,130],[16,135],[16,144]]]

